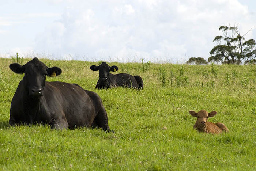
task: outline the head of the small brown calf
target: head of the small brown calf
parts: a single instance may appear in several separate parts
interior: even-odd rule
[[[207,111],[205,110],[200,110],[197,113],[193,110],[189,111],[189,114],[191,114],[193,117],[197,117],[196,124],[201,127],[206,126],[208,117],[213,117],[214,115],[216,115],[216,113],[216,111],[211,111],[210,113],[207,113]]]

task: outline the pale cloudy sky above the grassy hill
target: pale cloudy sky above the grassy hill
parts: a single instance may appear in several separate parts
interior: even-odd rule
[[[219,26],[256,39],[255,0],[0,0],[0,57],[185,63]]]

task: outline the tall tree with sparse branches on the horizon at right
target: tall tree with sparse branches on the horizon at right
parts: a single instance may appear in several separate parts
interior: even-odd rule
[[[238,26],[220,26],[219,31],[222,31],[223,36],[216,36],[214,38],[213,42],[217,42],[218,45],[214,46],[210,51],[211,56],[208,58],[208,62],[241,64],[242,61],[248,63],[256,58],[255,41],[253,39],[245,41],[244,38],[251,30],[241,35]],[[222,41],[225,43],[222,43]]]

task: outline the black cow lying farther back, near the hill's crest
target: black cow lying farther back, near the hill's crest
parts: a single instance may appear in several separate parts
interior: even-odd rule
[[[99,80],[96,84],[96,88],[109,88],[109,87],[133,87],[142,89],[143,81],[142,78],[138,75],[132,76],[127,73],[112,74],[110,71],[115,72],[118,70],[118,67],[113,65],[109,67],[106,62],[102,62],[101,65],[91,65],[90,69],[93,71],[99,70]]]

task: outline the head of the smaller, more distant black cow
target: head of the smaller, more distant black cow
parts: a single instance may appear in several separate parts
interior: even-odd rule
[[[102,62],[101,65],[96,66],[96,65],[91,65],[90,69],[93,71],[98,71],[99,70],[99,79],[102,82],[108,82],[109,79],[109,72],[116,72],[118,70],[118,67],[113,65],[109,67],[109,65],[106,62]]]

